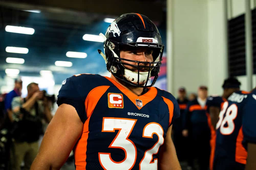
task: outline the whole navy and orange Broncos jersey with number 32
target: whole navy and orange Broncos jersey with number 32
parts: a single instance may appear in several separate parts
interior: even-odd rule
[[[78,74],[62,85],[57,104],[72,105],[83,132],[73,148],[76,169],[157,169],[176,99],[155,87],[136,96],[109,77]]]

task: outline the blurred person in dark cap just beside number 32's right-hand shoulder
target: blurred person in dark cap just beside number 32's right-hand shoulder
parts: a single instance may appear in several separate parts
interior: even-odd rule
[[[177,102],[180,108],[180,117],[175,120],[173,123],[173,143],[177,152],[177,156],[179,161],[185,161],[186,153],[186,137],[182,135],[182,127],[185,122],[185,115],[184,111],[187,107],[188,99],[186,96],[186,89],[185,87],[180,87],[178,89],[178,98]]]

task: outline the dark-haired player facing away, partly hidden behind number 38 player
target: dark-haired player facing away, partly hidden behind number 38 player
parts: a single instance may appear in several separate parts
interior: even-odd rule
[[[214,161],[214,152],[215,152],[215,143],[216,143],[216,124],[219,120],[219,113],[223,106],[223,103],[227,101],[228,97],[236,92],[239,91],[241,83],[235,77],[229,77],[225,79],[222,88],[223,94],[222,96],[210,96],[207,98],[207,116],[208,116],[208,123],[211,129],[211,154],[210,154],[210,170],[213,169],[213,161]]]

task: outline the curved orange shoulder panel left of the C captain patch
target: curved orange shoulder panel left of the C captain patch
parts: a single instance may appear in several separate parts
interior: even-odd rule
[[[87,118],[91,116],[96,104],[109,87],[110,86],[98,86],[89,92],[84,102]]]

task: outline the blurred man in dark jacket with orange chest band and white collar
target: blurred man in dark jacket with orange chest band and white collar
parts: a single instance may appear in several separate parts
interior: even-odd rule
[[[190,158],[194,161],[189,162],[193,169],[198,166],[199,170],[209,168],[210,158],[210,127],[206,115],[207,87],[198,88],[198,97],[189,102],[185,110],[185,124],[182,131],[183,136],[191,139]],[[198,160],[198,165],[195,164]]]

